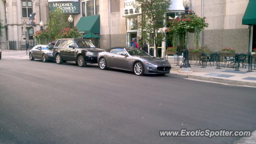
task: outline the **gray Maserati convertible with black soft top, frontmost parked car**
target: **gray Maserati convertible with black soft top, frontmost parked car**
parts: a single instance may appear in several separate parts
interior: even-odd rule
[[[170,63],[164,58],[155,58],[137,48],[114,47],[98,54],[100,69],[116,68],[129,70],[138,76],[143,74],[167,74]]]

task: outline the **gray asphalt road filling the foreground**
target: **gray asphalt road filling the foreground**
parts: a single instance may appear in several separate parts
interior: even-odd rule
[[[256,130],[256,88],[0,60],[0,144],[232,144],[159,130]]]

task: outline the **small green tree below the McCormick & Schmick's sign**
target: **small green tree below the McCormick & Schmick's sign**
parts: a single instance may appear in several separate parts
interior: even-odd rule
[[[51,39],[60,38],[60,31],[65,27],[68,27],[68,15],[63,14],[60,8],[51,11],[50,19],[47,21]]]

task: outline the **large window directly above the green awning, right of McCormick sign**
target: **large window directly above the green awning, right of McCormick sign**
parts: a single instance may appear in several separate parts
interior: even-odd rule
[[[99,0],[86,0],[81,2],[82,16],[99,14]]]

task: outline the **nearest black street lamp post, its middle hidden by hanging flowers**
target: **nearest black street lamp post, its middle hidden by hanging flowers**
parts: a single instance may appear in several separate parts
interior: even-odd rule
[[[183,0],[183,6],[185,8],[185,14],[188,14],[188,9],[191,5],[191,0]],[[188,61],[188,49],[184,48],[184,59],[183,59],[183,64],[180,66],[181,71],[191,71],[191,66]]]

